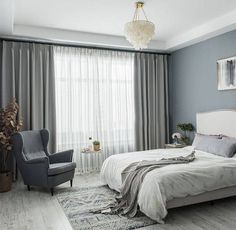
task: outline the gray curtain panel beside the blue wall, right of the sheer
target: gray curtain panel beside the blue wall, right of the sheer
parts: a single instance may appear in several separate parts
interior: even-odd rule
[[[136,149],[164,147],[169,141],[167,55],[135,54],[134,78]]]

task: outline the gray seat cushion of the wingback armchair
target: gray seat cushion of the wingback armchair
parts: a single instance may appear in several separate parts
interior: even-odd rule
[[[53,176],[64,172],[71,171],[76,168],[75,162],[55,163],[50,164],[48,169],[48,175]]]

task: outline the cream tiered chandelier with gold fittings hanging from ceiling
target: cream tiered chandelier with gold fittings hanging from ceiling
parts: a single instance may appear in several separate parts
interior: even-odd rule
[[[136,50],[147,48],[148,43],[155,33],[155,26],[149,22],[143,10],[143,2],[136,2],[133,21],[125,24],[124,32],[126,39]],[[140,11],[143,12],[146,20],[140,20]]]

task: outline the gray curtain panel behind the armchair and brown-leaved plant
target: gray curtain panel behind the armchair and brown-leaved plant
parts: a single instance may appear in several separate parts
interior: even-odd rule
[[[49,150],[56,149],[53,47],[2,41],[1,106],[16,97],[24,130],[50,130]]]

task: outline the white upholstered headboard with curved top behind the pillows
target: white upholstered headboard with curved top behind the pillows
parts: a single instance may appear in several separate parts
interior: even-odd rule
[[[236,138],[236,110],[197,113],[197,132]]]

